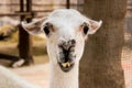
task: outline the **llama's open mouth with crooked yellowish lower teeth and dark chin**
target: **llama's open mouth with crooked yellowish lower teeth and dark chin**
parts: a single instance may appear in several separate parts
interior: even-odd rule
[[[58,65],[59,65],[61,69],[65,73],[68,73],[74,67],[74,63],[69,63],[69,62],[67,62],[67,63],[58,62]]]

